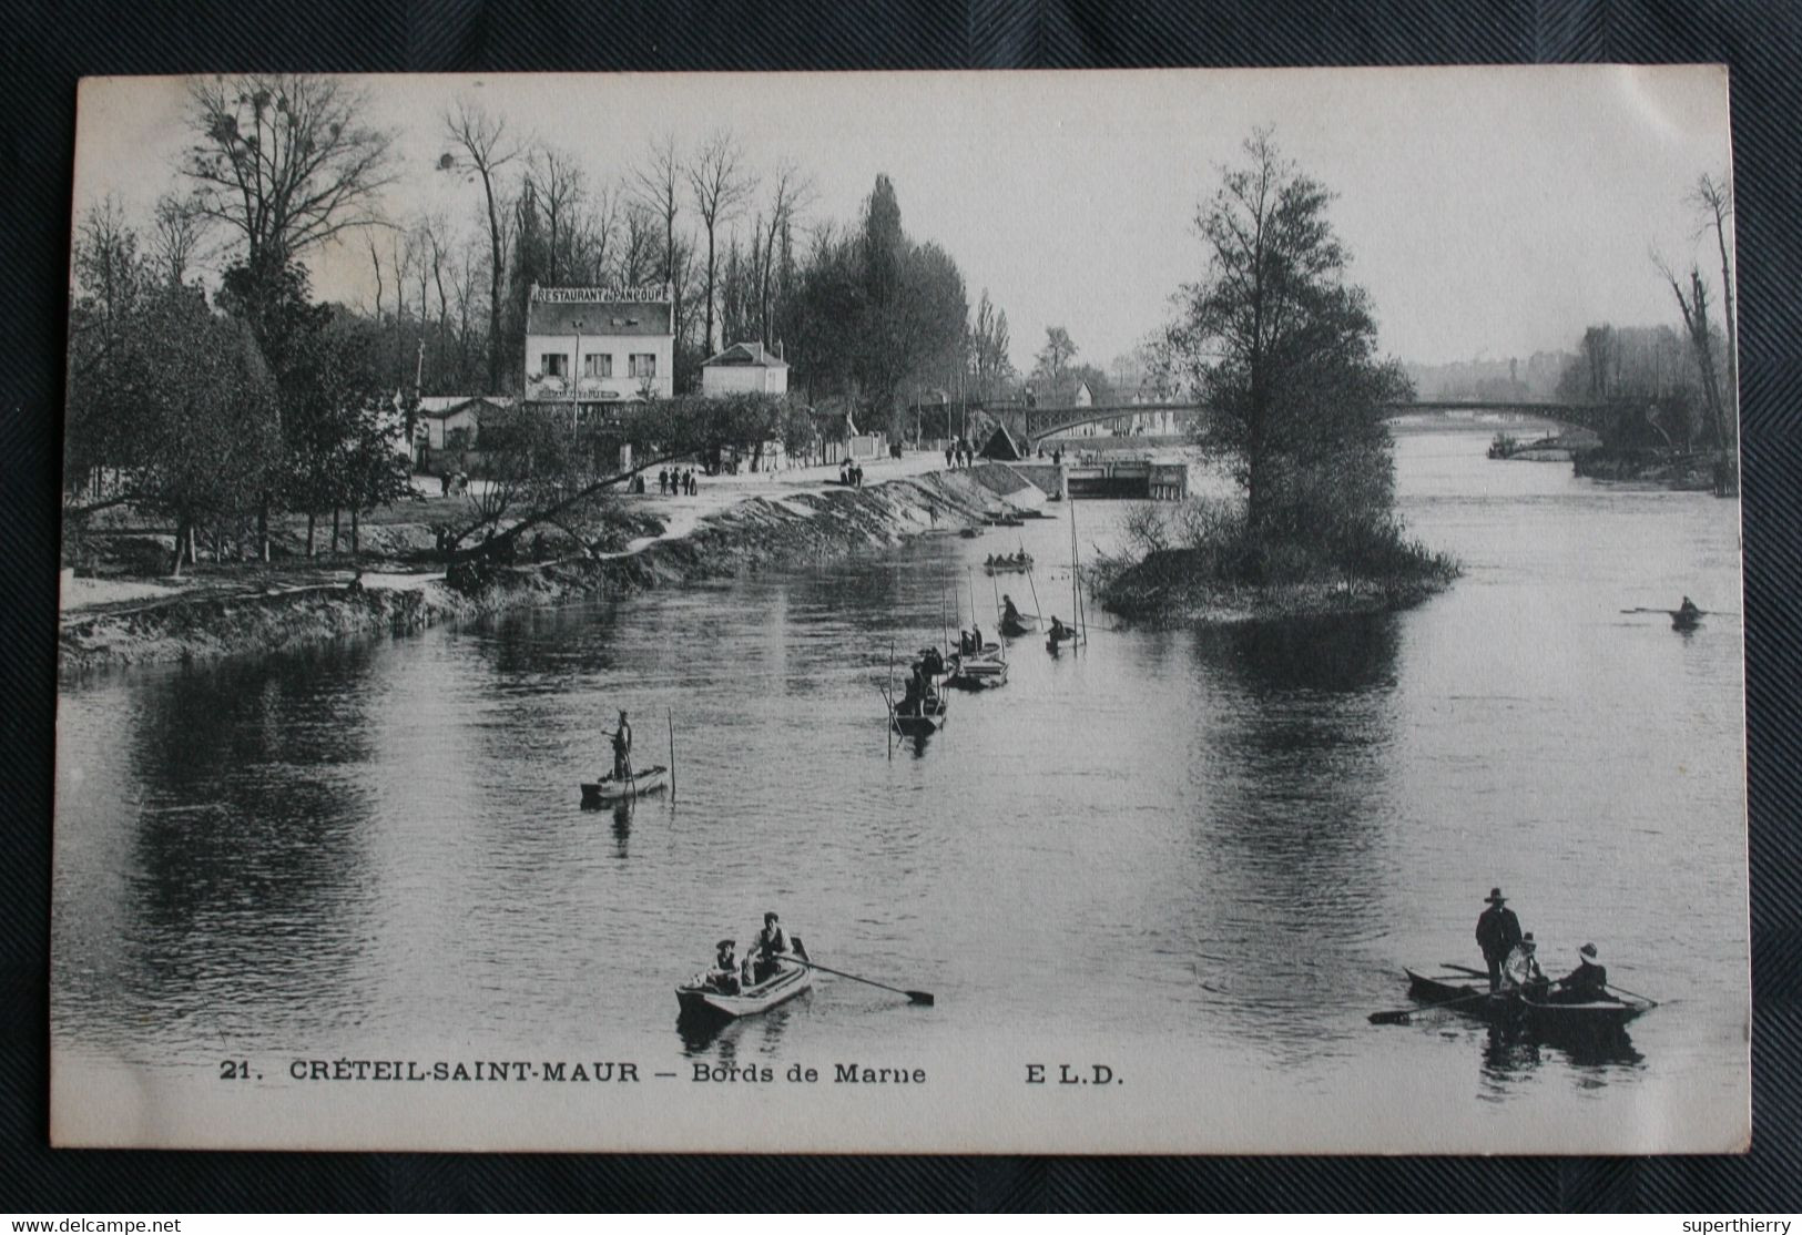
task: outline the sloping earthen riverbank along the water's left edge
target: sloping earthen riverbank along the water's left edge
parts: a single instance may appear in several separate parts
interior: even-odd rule
[[[912,466],[908,466],[912,464]],[[209,661],[335,639],[404,636],[535,605],[631,596],[654,587],[822,562],[982,520],[995,506],[984,468],[926,470],[923,457],[883,468],[863,488],[825,479],[715,486],[676,508],[661,533],[618,553],[533,565],[440,571],[250,572],[229,587],[173,590],[151,580],[74,580],[63,599],[59,670]],[[878,472],[878,468],[870,468]],[[86,596],[83,596],[86,592]],[[86,603],[83,603],[86,601]]]

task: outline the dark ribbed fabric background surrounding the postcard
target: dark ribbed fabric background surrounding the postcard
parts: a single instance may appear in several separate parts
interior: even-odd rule
[[[1797,1210],[1802,7],[1732,0],[5,0],[0,1212]],[[1744,389],[1755,1138],[1688,1159],[474,1158],[47,1149],[58,409],[81,74],[1726,61]],[[1624,756],[1625,758],[1625,756]],[[1681,940],[1672,940],[1681,947]],[[1433,1111],[1422,1111],[1431,1122]]]

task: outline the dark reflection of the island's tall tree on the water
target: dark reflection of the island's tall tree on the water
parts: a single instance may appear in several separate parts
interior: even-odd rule
[[[1357,943],[1388,925],[1373,862],[1389,814],[1397,619],[1247,623],[1193,639],[1200,690],[1218,702],[1195,821],[1191,936],[1236,958],[1204,972],[1216,1006],[1285,1053],[1319,1050],[1297,1001],[1355,1006]]]

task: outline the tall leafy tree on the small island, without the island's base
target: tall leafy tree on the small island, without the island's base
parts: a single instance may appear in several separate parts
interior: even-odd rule
[[[1182,288],[1164,337],[1173,374],[1209,409],[1197,441],[1229,464],[1254,535],[1321,486],[1359,495],[1362,518],[1386,518],[1382,405],[1409,394],[1407,378],[1377,358],[1370,295],[1346,281],[1326,220],[1333,194],[1267,131],[1245,155],[1198,207],[1207,272]]]

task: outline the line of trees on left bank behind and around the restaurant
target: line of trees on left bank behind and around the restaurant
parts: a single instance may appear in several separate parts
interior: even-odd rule
[[[108,200],[77,220],[74,513],[132,502],[171,517],[177,569],[196,529],[267,558],[268,520],[285,511],[306,517],[308,551],[326,517],[335,542],[348,513],[355,540],[360,511],[407,491],[395,443],[411,439],[420,396],[521,392],[533,284],[667,284],[678,396],[699,385],[710,351],[739,340],[780,349],[800,400],[838,400],[894,428],[926,387],[1011,374],[1006,313],[984,292],[971,322],[962,272],[903,229],[887,176],[838,223],[807,216],[815,189],[800,167],[759,175],[730,130],[692,148],[654,139],[600,175],[458,101],[438,117],[443,153],[414,169],[398,160],[398,133],[369,117],[346,79],[196,79],[175,189],[151,218]],[[391,189],[414,175],[476,185],[474,218],[391,218]],[[332,243],[368,252],[369,304],[317,302],[310,263]],[[807,432],[793,410],[744,400],[679,407],[687,416],[614,414],[607,443],[586,450],[521,412],[523,446],[506,463],[515,513],[604,479],[600,446],[616,439],[636,436],[654,457]]]

